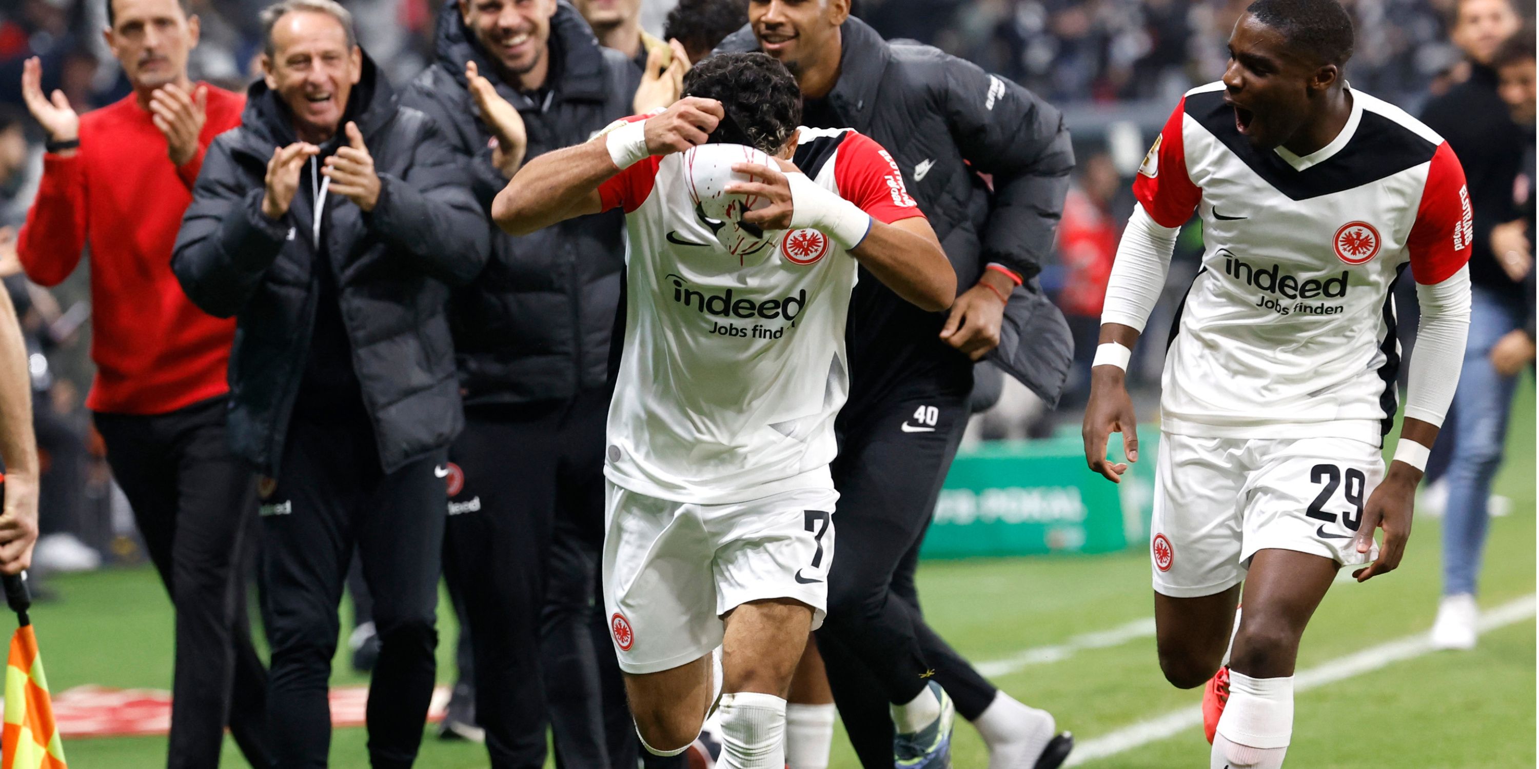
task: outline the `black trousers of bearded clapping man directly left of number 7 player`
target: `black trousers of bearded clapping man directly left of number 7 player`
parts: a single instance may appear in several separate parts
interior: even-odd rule
[[[594,643],[603,540],[609,398],[469,406],[449,449],[463,478],[449,498],[443,574],[462,595],[476,669],[476,721],[494,769],[545,766],[546,724],[560,766],[633,767],[623,700],[602,695]],[[602,606],[602,604],[600,604]],[[606,631],[605,631],[606,632]],[[614,729],[614,712],[623,729]]]

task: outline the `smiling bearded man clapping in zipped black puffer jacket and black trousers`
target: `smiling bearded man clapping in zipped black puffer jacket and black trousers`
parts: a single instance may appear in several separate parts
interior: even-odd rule
[[[443,128],[488,211],[525,158],[586,141],[631,111],[640,71],[600,48],[566,3],[449,0],[437,29],[437,62],[403,102]],[[546,711],[563,764],[633,766],[623,695],[600,694],[599,666],[616,680],[619,669],[593,634],[603,626],[594,595],[605,381],[625,217],[523,237],[482,226],[491,260],[449,301],[465,432],[449,448],[445,532],[445,577],[469,624],[476,721],[499,769],[543,766]],[[599,712],[613,714],[609,729]]]

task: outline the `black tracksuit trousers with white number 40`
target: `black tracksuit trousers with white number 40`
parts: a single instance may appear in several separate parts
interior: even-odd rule
[[[922,411],[923,409],[923,411]],[[994,689],[919,611],[919,546],[968,420],[968,395],[917,388],[851,401],[839,417],[833,463],[842,548],[828,571],[828,618],[817,649],[850,743],[866,769],[893,766],[890,703],[906,703],[923,674],[977,718]]]

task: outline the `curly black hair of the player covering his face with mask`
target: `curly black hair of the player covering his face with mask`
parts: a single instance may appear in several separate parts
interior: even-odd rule
[[[683,95],[714,98],[726,118],[711,141],[748,145],[766,155],[780,152],[802,122],[802,89],[768,54],[717,54],[683,75]]]

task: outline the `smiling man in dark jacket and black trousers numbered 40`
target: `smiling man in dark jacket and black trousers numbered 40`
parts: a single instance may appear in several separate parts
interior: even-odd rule
[[[754,49],[796,75],[803,125],[850,126],[886,148],[965,289],[950,314],[926,312],[862,275],[850,303],[851,392],[831,469],[842,537],[860,548],[833,563],[816,646],[839,714],[866,767],[894,755],[943,766],[951,703],[988,743],[991,767],[1056,767],[1073,740],[925,624],[913,574],[966,428],[973,363],[990,355],[1050,403],[1068,375],[1068,326],[1033,280],[1068,192],[1068,131],[1014,83],[882,40],[850,17],[850,0],[749,0],[748,28],[717,51]],[[979,174],[991,174],[993,189]],[[948,700],[928,700],[931,675]],[[831,718],[810,718],[805,731],[788,718],[793,740],[820,743],[794,757],[828,754]]]

